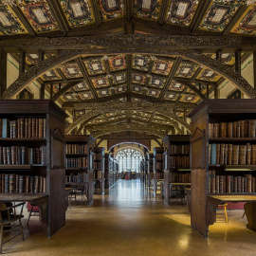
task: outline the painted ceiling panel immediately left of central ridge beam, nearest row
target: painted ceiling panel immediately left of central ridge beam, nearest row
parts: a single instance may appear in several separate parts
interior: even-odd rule
[[[100,0],[101,19],[111,20],[124,14],[123,0]]]

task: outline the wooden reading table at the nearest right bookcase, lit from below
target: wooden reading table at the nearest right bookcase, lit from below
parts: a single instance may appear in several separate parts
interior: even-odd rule
[[[210,194],[208,202],[217,209],[218,205],[226,202],[238,203],[247,202],[245,204],[245,213],[247,215],[247,229],[256,231],[256,195],[255,193],[239,193],[239,194]],[[216,213],[213,215],[216,221]],[[213,219],[213,223],[215,222]],[[212,224],[213,224],[212,223]]]

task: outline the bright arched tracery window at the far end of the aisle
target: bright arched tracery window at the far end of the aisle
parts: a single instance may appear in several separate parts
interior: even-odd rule
[[[119,162],[119,173],[121,172],[140,172],[140,160],[142,155],[135,149],[123,149],[116,155]]]

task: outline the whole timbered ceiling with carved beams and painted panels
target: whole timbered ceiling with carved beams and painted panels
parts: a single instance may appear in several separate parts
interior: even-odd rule
[[[0,47],[20,65],[3,98],[37,80],[67,133],[183,133],[226,80],[256,97],[240,75],[255,34],[253,0],[2,0]]]

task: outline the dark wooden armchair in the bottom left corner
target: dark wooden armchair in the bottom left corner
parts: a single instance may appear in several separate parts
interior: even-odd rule
[[[22,215],[24,205],[25,205],[25,202],[14,205],[14,206],[12,206],[12,204],[10,204],[10,203],[9,204],[5,203],[5,202],[0,203],[0,227],[1,227],[0,254],[2,254],[3,244],[9,242],[14,237],[21,234],[22,239],[24,240],[23,227],[22,227],[22,222],[21,222],[21,219],[24,217],[24,215]],[[19,213],[16,212],[17,211],[16,209],[18,207],[21,207]],[[16,221],[19,222],[19,225],[14,225],[14,222],[16,222]],[[15,234],[14,236],[7,239],[7,241],[4,242],[4,232],[9,231],[9,229],[15,230],[15,228],[17,228],[17,227],[20,227],[20,231],[17,234]],[[6,230],[6,229],[8,229],[8,230]],[[15,230],[15,231],[17,231],[17,230]]]

